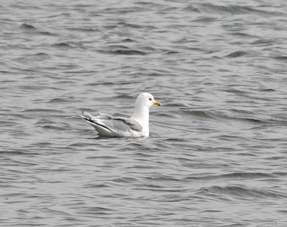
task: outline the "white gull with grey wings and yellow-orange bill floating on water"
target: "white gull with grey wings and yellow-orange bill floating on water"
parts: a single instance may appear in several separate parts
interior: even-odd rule
[[[109,137],[149,137],[149,108],[161,106],[149,93],[141,93],[135,101],[135,111],[130,118],[113,117],[105,113],[92,116],[83,111],[84,117],[78,116],[92,125],[101,136]]]

